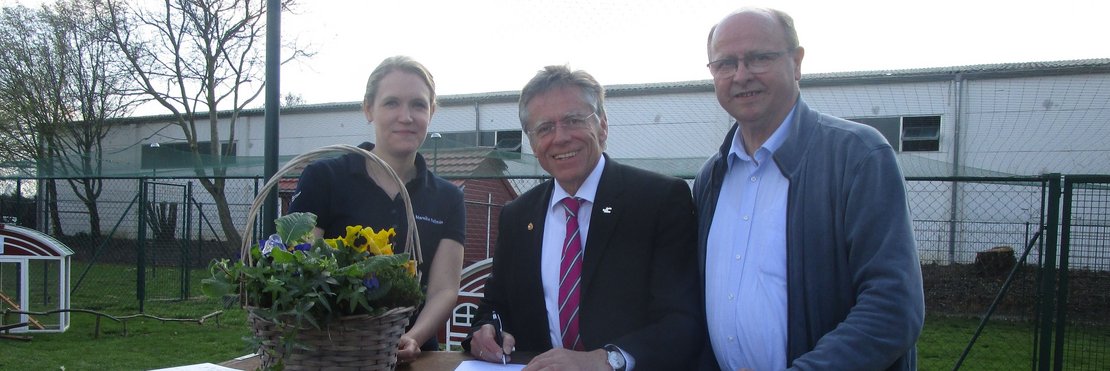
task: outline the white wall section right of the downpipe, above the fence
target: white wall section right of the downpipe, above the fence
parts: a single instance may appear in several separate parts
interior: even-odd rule
[[[965,112],[969,167],[1110,173],[1110,74],[972,80]]]

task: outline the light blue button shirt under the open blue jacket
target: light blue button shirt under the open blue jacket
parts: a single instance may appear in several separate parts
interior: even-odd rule
[[[723,370],[786,369],[786,197],[771,154],[794,110],[748,156],[740,131],[728,153],[706,251],[706,318]],[[740,123],[744,124],[743,122]]]

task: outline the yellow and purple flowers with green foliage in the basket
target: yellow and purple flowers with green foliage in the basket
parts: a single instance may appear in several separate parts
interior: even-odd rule
[[[416,262],[393,252],[393,229],[353,225],[343,237],[322,239],[313,233],[312,213],[290,213],[274,223],[278,233],[251,247],[249,260],[212,262],[212,277],[202,281],[205,294],[239,293],[254,314],[293,331],[423,300]]]

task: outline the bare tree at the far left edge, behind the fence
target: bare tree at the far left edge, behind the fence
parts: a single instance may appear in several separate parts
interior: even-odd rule
[[[4,9],[0,28],[8,51],[0,58],[0,91],[11,118],[4,136],[18,149],[17,158],[40,164],[40,176],[67,176],[89,212],[91,234],[100,237],[97,200],[103,187],[101,146],[111,128],[107,121],[134,103],[122,90],[129,80],[120,53],[80,0]],[[53,232],[61,234],[57,181],[44,186]]]

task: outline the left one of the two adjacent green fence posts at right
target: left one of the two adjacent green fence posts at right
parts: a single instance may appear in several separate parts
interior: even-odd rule
[[[1048,174],[1048,219],[1045,221],[1045,250],[1041,254],[1042,280],[1038,301],[1040,302],[1038,327],[1040,339],[1037,344],[1037,370],[1050,370],[1052,360],[1052,320],[1056,291],[1056,249],[1060,227],[1060,178],[1059,173]]]

